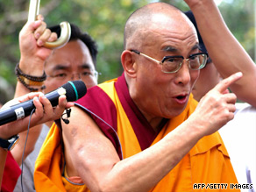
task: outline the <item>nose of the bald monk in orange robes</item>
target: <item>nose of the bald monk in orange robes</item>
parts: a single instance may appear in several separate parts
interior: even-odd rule
[[[179,71],[175,73],[175,83],[187,85],[191,81],[190,70],[188,67],[188,60],[183,60],[183,64]]]

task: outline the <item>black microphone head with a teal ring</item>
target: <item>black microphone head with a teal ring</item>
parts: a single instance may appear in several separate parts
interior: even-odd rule
[[[66,97],[68,102],[74,102],[80,99],[87,92],[86,86],[81,80],[67,82],[61,87],[66,89]]]

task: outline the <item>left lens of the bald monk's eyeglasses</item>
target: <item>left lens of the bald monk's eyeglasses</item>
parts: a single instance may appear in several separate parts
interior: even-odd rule
[[[162,62],[162,71],[165,73],[175,73],[182,65],[182,57],[166,57]]]

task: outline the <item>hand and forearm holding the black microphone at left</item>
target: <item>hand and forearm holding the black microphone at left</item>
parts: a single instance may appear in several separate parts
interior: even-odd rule
[[[74,106],[74,103],[67,103],[66,96],[60,96],[59,105],[53,109],[52,104],[46,98],[46,96],[39,92],[30,93],[25,96],[20,96],[17,99],[15,99],[15,103],[22,103],[30,99],[33,99],[33,103],[36,107],[36,110],[31,118],[31,127],[37,124],[45,123],[49,120],[55,120],[57,118],[60,118],[60,116],[66,108]],[[10,106],[11,104],[13,103],[6,103],[3,106],[3,108],[5,106]],[[25,117],[23,119],[13,121],[9,124],[1,125],[0,138],[9,139],[13,135],[17,135],[19,132],[24,132],[27,129],[29,118],[30,117]],[[0,188],[4,173],[6,156],[7,150],[0,147]]]

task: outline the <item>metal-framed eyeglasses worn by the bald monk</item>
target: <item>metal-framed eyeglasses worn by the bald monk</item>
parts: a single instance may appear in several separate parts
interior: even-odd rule
[[[195,54],[190,54],[187,59],[185,59],[183,56],[165,56],[162,61],[160,60],[155,60],[152,57],[140,53],[139,51],[136,50],[131,50],[131,52],[137,53],[139,55],[142,55],[146,57],[149,60],[153,60],[160,64],[162,72],[166,74],[172,74],[176,73],[180,70],[183,60],[188,61],[188,66],[192,70],[199,70],[201,68],[205,67],[206,61],[208,54],[207,53],[195,53]]]

